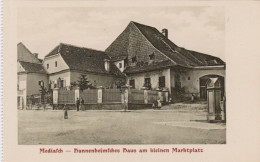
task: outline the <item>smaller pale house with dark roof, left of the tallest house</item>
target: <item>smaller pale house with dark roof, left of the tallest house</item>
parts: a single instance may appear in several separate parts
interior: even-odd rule
[[[124,81],[125,75],[110,63],[102,51],[60,43],[43,60],[51,88],[70,87],[81,74],[87,75],[92,85],[111,87]]]

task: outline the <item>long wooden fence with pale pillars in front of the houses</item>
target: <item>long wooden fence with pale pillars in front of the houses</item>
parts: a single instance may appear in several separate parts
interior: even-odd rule
[[[66,90],[59,89],[53,93],[54,104],[75,104],[76,98],[84,100],[85,104],[101,103],[123,103],[126,94],[120,89],[87,89]],[[168,92],[153,90],[128,89],[128,103],[131,104],[152,104],[160,99],[161,102],[168,102]]]

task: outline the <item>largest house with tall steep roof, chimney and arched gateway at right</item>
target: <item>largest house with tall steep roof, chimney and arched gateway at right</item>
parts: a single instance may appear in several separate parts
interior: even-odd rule
[[[154,27],[130,22],[105,52],[134,88],[168,89],[173,95],[182,91],[205,99],[206,80],[219,77],[224,93],[225,62],[178,47],[168,39],[167,29],[161,33]]]

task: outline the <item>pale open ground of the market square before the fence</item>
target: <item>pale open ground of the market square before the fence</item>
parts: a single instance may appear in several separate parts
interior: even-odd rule
[[[226,125],[206,123],[205,103],[178,103],[161,110],[19,110],[18,143],[225,144]]]

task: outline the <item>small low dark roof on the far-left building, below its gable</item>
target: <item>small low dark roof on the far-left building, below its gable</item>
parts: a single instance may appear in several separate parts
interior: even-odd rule
[[[24,62],[24,61],[19,61],[19,62],[21,66],[24,68],[25,72],[27,73],[43,73],[43,74],[46,73],[42,64]]]

